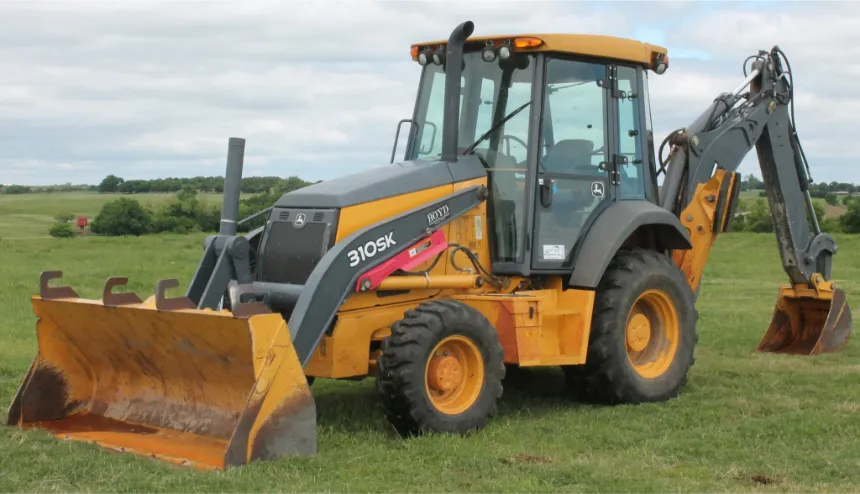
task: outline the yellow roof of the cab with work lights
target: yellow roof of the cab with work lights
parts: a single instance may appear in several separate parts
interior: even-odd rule
[[[530,40],[530,41],[526,41]],[[509,43],[516,52],[555,52],[584,55],[630,62],[652,68],[655,59],[667,56],[666,48],[643,43],[633,39],[599,34],[511,34],[471,36],[466,40],[467,49],[477,44],[484,46],[492,41],[495,48]],[[517,43],[517,41],[520,41]],[[417,60],[418,52],[425,47],[446,45],[447,40],[414,43],[411,48],[412,59]]]

